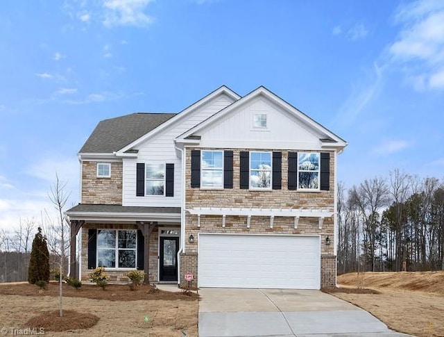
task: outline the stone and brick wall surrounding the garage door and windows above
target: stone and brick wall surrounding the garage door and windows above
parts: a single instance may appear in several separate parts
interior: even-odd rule
[[[201,149],[200,149],[201,150]],[[224,190],[203,190],[191,188],[191,149],[187,149],[187,166],[185,171],[186,191],[185,208],[191,207],[253,207],[253,208],[324,208],[334,211],[334,153],[330,155],[330,190],[319,192],[299,192],[288,190],[288,151],[282,152],[282,189],[281,190],[241,190],[239,188],[239,152],[251,149],[234,149],[233,154],[233,188]],[[254,151],[261,151],[255,149]],[[269,150],[263,150],[269,151]],[[280,151],[280,150],[274,150]],[[185,215],[185,238],[193,234],[194,243],[185,240],[186,256],[181,257],[180,282],[185,272],[194,270],[194,284],[197,283],[197,248],[198,233],[270,233],[270,234],[316,234],[321,235],[321,287],[336,284],[336,264],[325,261],[336,261],[334,256],[334,218],[325,218],[322,229],[318,227],[318,218],[300,217],[298,228],[294,229],[293,217],[275,217],[273,228],[270,228],[270,217],[251,217],[250,228],[247,228],[246,216],[227,216],[225,228],[222,227],[220,215],[202,215],[200,228],[196,215]],[[331,244],[325,244],[330,236]]]

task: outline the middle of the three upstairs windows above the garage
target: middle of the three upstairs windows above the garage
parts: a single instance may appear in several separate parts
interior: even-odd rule
[[[250,152],[250,188],[271,189],[271,152]]]

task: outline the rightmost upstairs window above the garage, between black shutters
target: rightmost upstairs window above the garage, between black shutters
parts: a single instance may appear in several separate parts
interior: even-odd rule
[[[298,189],[319,190],[320,167],[318,152],[299,152]]]

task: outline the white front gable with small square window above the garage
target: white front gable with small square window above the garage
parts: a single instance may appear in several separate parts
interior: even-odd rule
[[[255,113],[264,113],[268,116],[268,128],[264,130],[253,128]],[[219,147],[223,142],[228,146],[232,146],[228,144],[229,142],[241,146],[239,141],[244,141],[244,145],[248,145],[249,141],[257,147],[261,147],[261,142],[275,142],[275,144],[292,142],[295,146],[311,143],[302,148],[322,146],[335,147],[339,150],[347,145],[338,135],[263,86],[182,133],[176,140],[187,142],[196,138],[199,138],[200,145],[205,147]]]

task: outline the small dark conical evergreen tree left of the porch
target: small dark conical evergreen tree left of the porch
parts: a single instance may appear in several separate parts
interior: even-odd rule
[[[37,281],[49,282],[49,252],[46,238],[42,235],[42,229],[38,228],[33,240],[31,259],[28,267],[28,282],[35,284]]]

